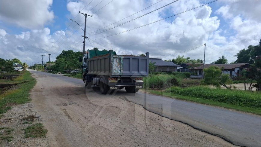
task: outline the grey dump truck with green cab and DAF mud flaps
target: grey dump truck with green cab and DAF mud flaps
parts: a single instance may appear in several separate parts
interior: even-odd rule
[[[88,50],[80,60],[85,87],[100,86],[102,94],[122,88],[136,93],[143,88],[143,77],[149,73],[149,53],[140,57],[117,55],[113,50]]]

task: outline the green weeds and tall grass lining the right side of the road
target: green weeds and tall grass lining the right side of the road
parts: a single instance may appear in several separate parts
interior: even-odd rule
[[[185,77],[182,73],[156,73],[147,77],[144,85],[152,94],[261,115],[259,92],[200,86],[200,80]]]

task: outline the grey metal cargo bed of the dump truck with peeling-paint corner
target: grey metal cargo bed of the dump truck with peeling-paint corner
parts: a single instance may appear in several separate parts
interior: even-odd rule
[[[87,59],[88,74],[109,76],[147,76],[149,53],[146,57],[109,54]]]

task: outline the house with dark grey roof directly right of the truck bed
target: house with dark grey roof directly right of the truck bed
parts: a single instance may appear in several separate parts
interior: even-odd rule
[[[173,62],[167,62],[163,61],[158,58],[149,58],[149,62],[155,63],[154,66],[156,67],[153,72],[176,72],[177,67],[180,67],[180,65],[174,64]]]

